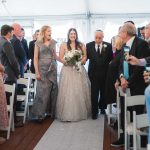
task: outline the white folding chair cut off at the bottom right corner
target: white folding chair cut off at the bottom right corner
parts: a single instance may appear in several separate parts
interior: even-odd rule
[[[140,130],[141,128],[149,127],[148,115],[140,114],[136,115],[133,111],[133,149],[142,150],[141,148],[141,135],[148,135],[148,132]]]

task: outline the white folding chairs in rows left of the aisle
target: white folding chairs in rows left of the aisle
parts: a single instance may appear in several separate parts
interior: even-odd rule
[[[25,86],[24,88],[24,95],[17,95],[17,101],[22,102],[24,105],[24,111],[17,111],[17,116],[23,117],[23,123],[26,122],[26,117],[29,115],[29,94],[33,94],[35,97],[36,94],[36,85],[37,80],[35,77],[35,74],[32,73],[25,73],[24,78],[20,78],[17,80],[17,84],[21,84]],[[7,139],[10,138],[10,131],[15,131],[14,128],[14,112],[13,112],[13,105],[14,105],[14,96],[15,96],[15,84],[8,85],[4,84],[5,92],[9,92],[11,94],[10,96],[10,103],[7,105],[7,110],[9,114],[9,125],[6,128],[1,128],[0,130],[7,131]]]

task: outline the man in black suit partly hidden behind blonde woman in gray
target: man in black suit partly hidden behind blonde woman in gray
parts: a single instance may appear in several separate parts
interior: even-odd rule
[[[31,67],[30,67],[30,70],[32,73],[35,73],[35,69],[34,69],[34,46],[35,46],[35,42],[38,38],[38,35],[39,35],[39,30],[36,30],[35,31],[35,34],[34,34],[34,39],[33,41],[31,41],[29,43],[29,58],[31,59]]]

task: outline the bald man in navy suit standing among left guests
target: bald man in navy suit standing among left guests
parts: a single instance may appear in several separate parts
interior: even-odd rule
[[[13,38],[11,39],[11,43],[13,45],[13,48],[15,50],[15,55],[20,64],[21,77],[24,77],[24,71],[27,66],[27,56],[23,48],[23,45],[21,43],[21,38],[22,38],[21,26],[17,23],[14,23],[12,27],[14,28],[14,35]]]

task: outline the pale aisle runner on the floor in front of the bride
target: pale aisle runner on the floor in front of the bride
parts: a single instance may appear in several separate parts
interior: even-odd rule
[[[34,150],[102,150],[104,117],[75,123],[54,121]]]

